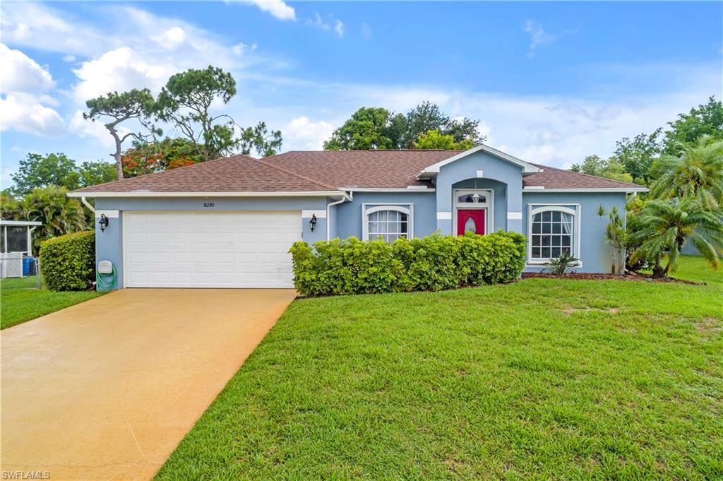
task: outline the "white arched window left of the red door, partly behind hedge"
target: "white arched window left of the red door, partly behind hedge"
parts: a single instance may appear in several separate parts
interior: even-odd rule
[[[362,206],[362,237],[375,240],[379,237],[385,242],[394,242],[400,237],[414,237],[413,205],[374,205]]]

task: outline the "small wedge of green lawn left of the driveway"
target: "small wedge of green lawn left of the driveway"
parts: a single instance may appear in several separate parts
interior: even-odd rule
[[[19,289],[21,284],[25,286],[28,282],[28,278],[7,278],[0,282],[0,328],[9,328],[103,294],[95,291]],[[34,285],[34,281],[31,284]]]

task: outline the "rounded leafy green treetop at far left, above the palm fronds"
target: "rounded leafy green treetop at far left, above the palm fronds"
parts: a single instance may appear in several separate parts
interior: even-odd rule
[[[38,187],[66,187],[74,190],[80,187],[80,175],[75,162],[64,153],[29,153],[20,161],[17,172],[12,174],[15,183],[13,192],[25,195]]]

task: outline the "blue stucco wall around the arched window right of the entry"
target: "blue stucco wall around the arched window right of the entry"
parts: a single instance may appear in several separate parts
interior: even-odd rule
[[[522,195],[522,234],[528,237],[529,205],[580,205],[580,255],[582,268],[578,272],[609,273],[611,271],[611,249],[605,239],[607,216],[601,218],[597,210],[602,205],[606,212],[617,208],[625,215],[624,192],[525,192]],[[528,265],[526,272],[539,272],[544,266]]]

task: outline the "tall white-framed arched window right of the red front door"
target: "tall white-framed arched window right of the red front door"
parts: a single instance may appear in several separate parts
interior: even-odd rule
[[[543,264],[567,252],[580,259],[580,205],[529,205],[527,260]]]

